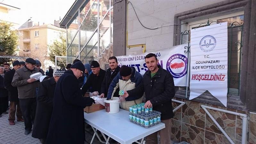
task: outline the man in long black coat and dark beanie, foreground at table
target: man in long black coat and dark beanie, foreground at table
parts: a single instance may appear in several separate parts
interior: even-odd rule
[[[82,62],[74,63],[58,80],[53,100],[53,113],[47,134],[47,144],[85,142],[84,109],[95,101],[82,97],[78,78],[83,75]]]

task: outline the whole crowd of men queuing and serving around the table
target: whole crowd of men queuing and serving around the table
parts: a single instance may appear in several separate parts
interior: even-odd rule
[[[16,60],[12,63],[13,69],[4,64],[0,67],[0,114],[9,108],[9,95],[10,125],[15,124],[16,112],[17,121],[24,121],[24,133],[29,134],[34,124],[32,137],[43,144],[83,144],[83,108],[95,103],[92,98],[84,97],[87,92],[107,100],[119,97],[120,108],[125,110],[141,103],[145,92],[145,107],[153,106],[154,110],[160,111],[161,121],[166,125],[159,131],[160,141],[170,144],[171,99],[175,95],[171,74],[158,65],[153,53],[145,56],[148,71],[144,76],[134,67],[119,67],[116,57],[110,57],[108,63],[110,68],[105,71],[95,60],[83,64],[76,59],[66,66],[65,71],[55,71],[52,76],[48,73],[40,81],[29,77],[38,72],[45,75],[38,60],[28,58],[24,63]],[[124,90],[123,96],[119,95],[120,90]],[[157,132],[149,135],[146,141],[147,144],[157,143]]]

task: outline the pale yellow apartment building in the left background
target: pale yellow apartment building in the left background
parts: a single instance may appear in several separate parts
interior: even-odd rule
[[[27,26],[23,28],[25,24]],[[55,67],[48,58],[48,45],[52,44],[54,40],[59,39],[60,35],[65,36],[65,29],[51,24],[34,25],[32,21],[28,21],[25,24],[17,30],[17,34],[20,36],[17,47],[18,55],[39,60],[44,70],[49,66]]]

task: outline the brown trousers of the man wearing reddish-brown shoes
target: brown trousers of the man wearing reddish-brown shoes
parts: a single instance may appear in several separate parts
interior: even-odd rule
[[[16,113],[16,106],[17,106],[17,113]],[[17,120],[22,119],[22,113],[21,113],[19,101],[10,101],[9,118],[8,118],[9,121],[15,120],[15,113],[17,116]]]

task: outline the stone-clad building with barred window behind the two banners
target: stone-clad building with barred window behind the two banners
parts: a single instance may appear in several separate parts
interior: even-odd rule
[[[174,100],[185,102],[185,104],[175,112],[170,135],[173,141],[196,144],[256,143],[256,105],[254,104],[256,101],[254,91],[256,85],[256,11],[254,9],[256,1],[114,0],[113,3],[114,11],[113,18],[111,18],[113,19],[113,32],[111,31],[109,36],[111,40],[113,36],[113,41],[111,41],[113,48],[108,51],[107,56],[141,54],[179,44],[188,44],[184,48],[184,51],[188,51],[190,29],[228,22],[227,107],[224,107],[210,92],[204,92],[198,98],[188,100],[189,87],[177,87]],[[76,4],[82,5],[76,1],[66,16],[73,18],[73,15],[75,16],[76,12],[80,11],[78,6],[77,10],[72,12],[72,8]],[[63,20],[61,25],[66,28],[71,26]],[[98,25],[98,29],[95,29],[94,32],[99,31],[99,28]],[[90,39],[93,37],[94,35]],[[86,37],[82,38],[80,35],[77,39],[83,41]],[[99,34],[95,36],[95,39],[98,39],[97,42],[100,43]],[[74,55],[72,59],[83,60],[85,58],[81,54],[83,50],[79,51],[78,46],[76,49],[80,55],[72,53]],[[69,48],[67,51],[70,51]],[[97,52],[100,54],[100,49],[97,49]],[[68,54],[68,60],[72,54]],[[94,58],[103,62],[101,66],[108,63],[104,56],[98,57],[98,59]],[[87,62],[87,60],[83,62]],[[179,102],[173,102],[174,108],[178,105],[180,105]],[[219,125],[214,123],[202,106],[215,109],[208,109],[208,112]],[[246,118],[242,118],[240,115],[246,116]]]

